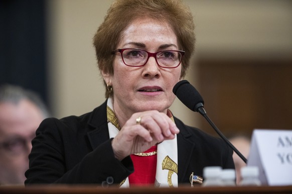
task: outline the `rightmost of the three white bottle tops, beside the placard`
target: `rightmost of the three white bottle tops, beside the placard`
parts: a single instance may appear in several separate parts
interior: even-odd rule
[[[241,177],[239,185],[242,186],[260,186],[261,182],[258,179],[259,170],[257,166],[244,166],[241,169]]]

